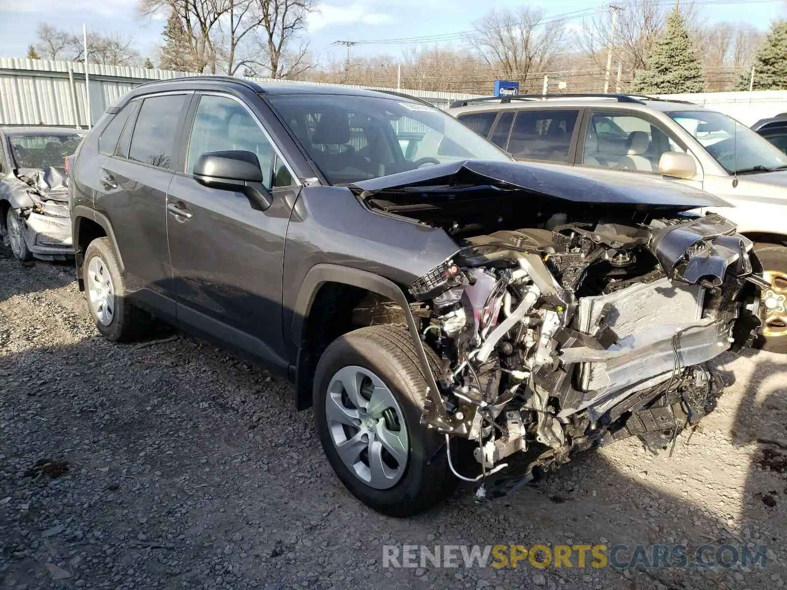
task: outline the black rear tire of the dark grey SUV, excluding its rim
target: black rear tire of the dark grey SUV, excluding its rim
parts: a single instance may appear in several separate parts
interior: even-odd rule
[[[89,285],[91,279],[88,276],[88,269],[91,260],[98,257],[102,260],[105,268],[109,271],[114,290],[114,310],[113,318],[107,325],[101,323],[94,305],[91,304]],[[85,251],[85,260],[82,267],[82,278],[85,282],[85,297],[87,307],[91,310],[96,329],[107,340],[113,342],[125,342],[137,340],[150,334],[152,329],[152,317],[142,309],[135,308],[126,297],[126,282],[120,274],[120,264],[117,264],[117,257],[109,238],[96,238]]]

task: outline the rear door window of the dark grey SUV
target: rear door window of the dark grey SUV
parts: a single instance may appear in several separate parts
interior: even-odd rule
[[[131,135],[128,159],[158,168],[172,168],[176,153],[178,122],[186,105],[186,94],[146,98]]]

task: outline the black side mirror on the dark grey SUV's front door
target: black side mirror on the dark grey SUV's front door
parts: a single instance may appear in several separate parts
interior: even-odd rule
[[[242,150],[203,153],[194,163],[194,180],[202,186],[218,190],[235,190],[246,195],[252,208],[264,211],[273,203],[260,160],[254,153]]]

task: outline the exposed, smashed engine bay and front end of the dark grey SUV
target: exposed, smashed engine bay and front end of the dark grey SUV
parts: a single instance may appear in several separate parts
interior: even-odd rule
[[[481,483],[479,500],[595,444],[674,444],[721,393],[708,361],[756,337],[762,269],[722,216],[537,199],[493,217],[414,192],[371,205],[442,227],[460,248],[409,290],[441,367],[422,423],[446,444],[475,441],[481,475],[452,469]],[[516,218],[530,223],[508,229]],[[487,479],[518,452],[535,452],[523,474]]]

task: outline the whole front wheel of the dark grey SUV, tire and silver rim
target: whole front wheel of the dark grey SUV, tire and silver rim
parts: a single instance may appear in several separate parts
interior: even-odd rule
[[[427,510],[456,481],[442,437],[420,424],[427,384],[416,359],[405,327],[369,326],[332,342],[314,380],[316,430],[338,478],[395,517]]]

